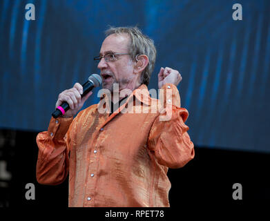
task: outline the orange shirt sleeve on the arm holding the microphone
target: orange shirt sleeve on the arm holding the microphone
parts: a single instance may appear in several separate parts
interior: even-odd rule
[[[40,184],[57,185],[64,182],[68,175],[70,135],[68,128],[73,117],[51,118],[48,131],[37,135],[39,153],[36,177]]]

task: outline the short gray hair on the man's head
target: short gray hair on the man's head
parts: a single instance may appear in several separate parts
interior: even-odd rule
[[[146,84],[148,86],[151,74],[153,73],[155,67],[155,57],[157,55],[154,41],[148,36],[142,34],[142,31],[137,27],[110,27],[105,31],[106,37],[108,37],[108,35],[121,35],[124,33],[131,37],[131,42],[129,45],[131,57],[134,60],[138,54],[146,55],[148,57],[149,63],[146,68],[144,68],[141,75],[141,84]]]

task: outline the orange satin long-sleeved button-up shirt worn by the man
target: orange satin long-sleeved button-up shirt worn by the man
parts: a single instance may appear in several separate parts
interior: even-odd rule
[[[69,173],[68,206],[170,206],[168,168],[193,159],[194,146],[176,86],[162,89],[153,99],[139,86],[110,116],[98,111],[104,96],[74,119],[50,119],[48,131],[37,135],[37,181],[60,184]],[[133,113],[122,113],[131,101]],[[171,118],[161,120],[166,114]]]

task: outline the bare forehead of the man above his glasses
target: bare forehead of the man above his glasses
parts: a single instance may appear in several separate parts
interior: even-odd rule
[[[113,52],[128,52],[129,37],[126,34],[113,34],[104,39],[102,48],[100,48],[100,54],[104,54],[109,51]]]

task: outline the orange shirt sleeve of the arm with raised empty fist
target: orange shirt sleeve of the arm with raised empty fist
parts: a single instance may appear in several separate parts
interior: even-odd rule
[[[162,93],[163,92],[163,93]],[[194,157],[189,126],[184,122],[189,115],[180,107],[180,95],[173,84],[165,84],[160,93],[160,115],[155,119],[148,137],[148,147],[157,162],[169,168],[180,168]]]

